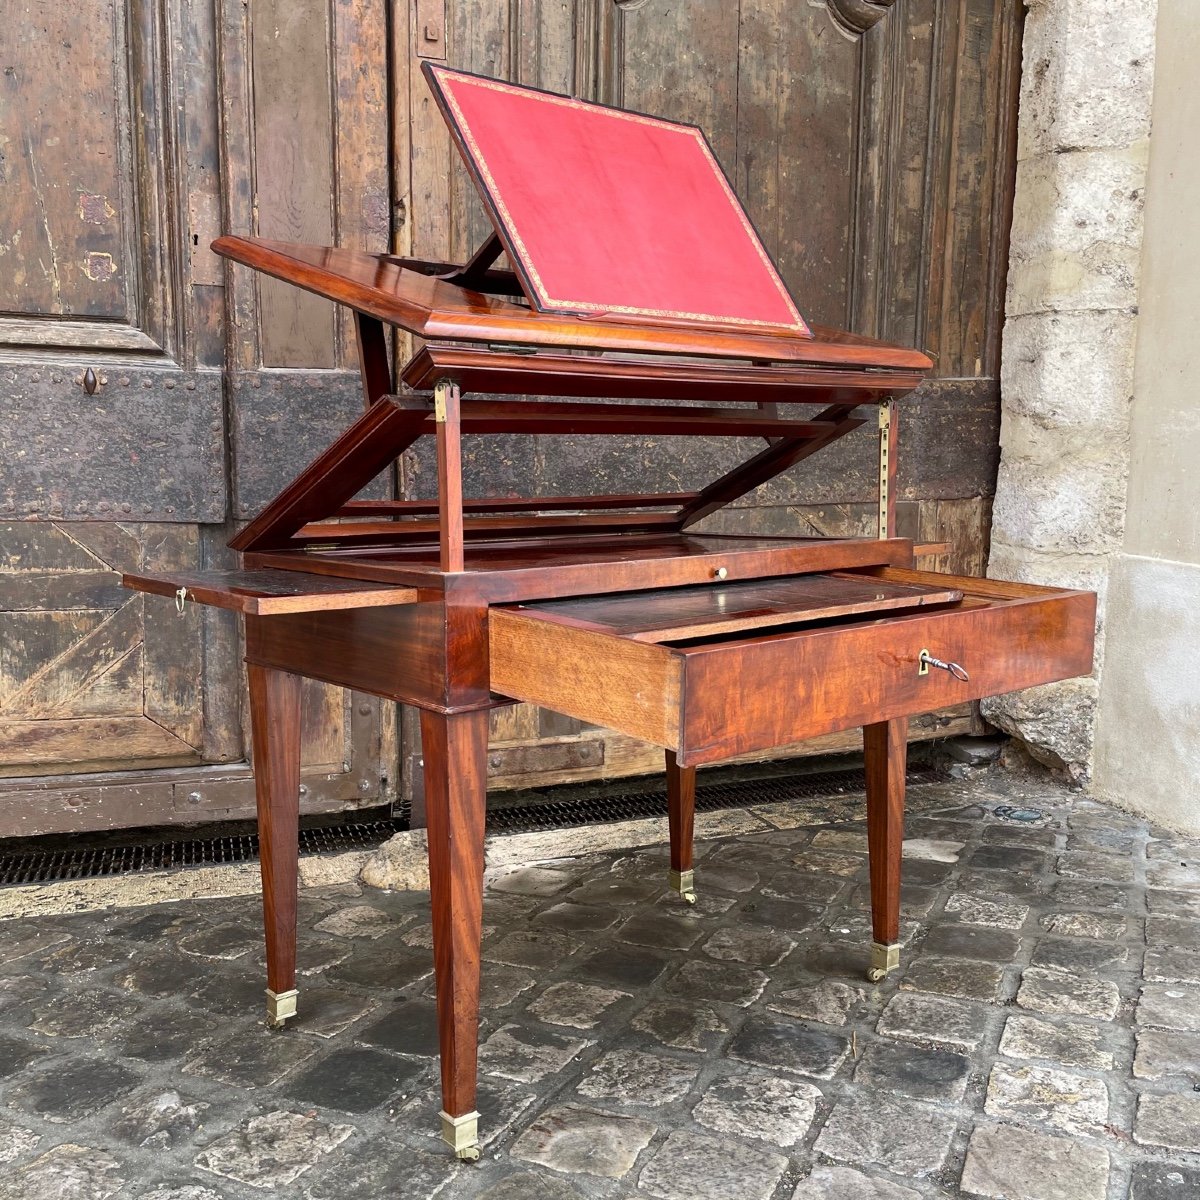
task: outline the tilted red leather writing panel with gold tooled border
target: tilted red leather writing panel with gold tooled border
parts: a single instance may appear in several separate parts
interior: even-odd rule
[[[811,336],[700,130],[425,68],[536,307]]]

